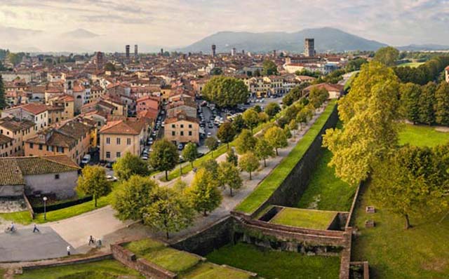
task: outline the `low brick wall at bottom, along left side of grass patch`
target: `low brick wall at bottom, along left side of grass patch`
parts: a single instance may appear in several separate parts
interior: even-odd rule
[[[111,245],[111,252],[114,259],[122,264],[139,271],[142,275],[153,279],[177,278],[177,274],[162,268],[146,259],[137,259],[133,252],[121,247],[120,245]]]

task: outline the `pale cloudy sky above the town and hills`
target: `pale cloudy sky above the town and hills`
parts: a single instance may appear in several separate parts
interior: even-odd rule
[[[335,27],[392,46],[449,45],[449,0],[0,0],[0,48],[187,46],[220,31]],[[86,36],[84,29],[98,36]],[[69,34],[67,34],[69,33]],[[133,48],[133,47],[131,47]]]

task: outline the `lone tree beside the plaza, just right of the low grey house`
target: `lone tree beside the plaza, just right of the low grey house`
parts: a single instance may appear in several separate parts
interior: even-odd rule
[[[81,172],[76,188],[82,193],[93,196],[95,207],[97,200],[106,196],[112,189],[111,183],[106,179],[106,170],[98,165],[87,165]]]

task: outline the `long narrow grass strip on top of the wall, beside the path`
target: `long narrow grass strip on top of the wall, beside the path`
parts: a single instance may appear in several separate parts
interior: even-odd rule
[[[250,193],[245,200],[243,200],[239,205],[237,205],[236,210],[246,213],[252,213],[257,210],[257,207],[262,205],[262,203],[272,195],[272,193],[281,185],[283,180],[295,167],[298,161],[302,158],[305,151],[309,148],[311,142],[314,141],[315,137],[319,134],[321,128],[328,120],[330,114],[335,108],[335,100],[331,101],[326,107],[323,114],[316,119],[315,123],[311,125],[311,128],[302,137],[300,142],[290,151],[290,154],[286,158],[283,158],[281,163],[272,170],[272,172],[264,179],[262,183],[257,186],[257,188]]]

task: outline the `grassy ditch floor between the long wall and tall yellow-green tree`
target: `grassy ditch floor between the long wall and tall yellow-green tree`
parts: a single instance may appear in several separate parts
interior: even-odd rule
[[[335,170],[328,166],[332,153],[323,148],[306,191],[297,207],[317,210],[349,211],[356,187],[335,177]]]

